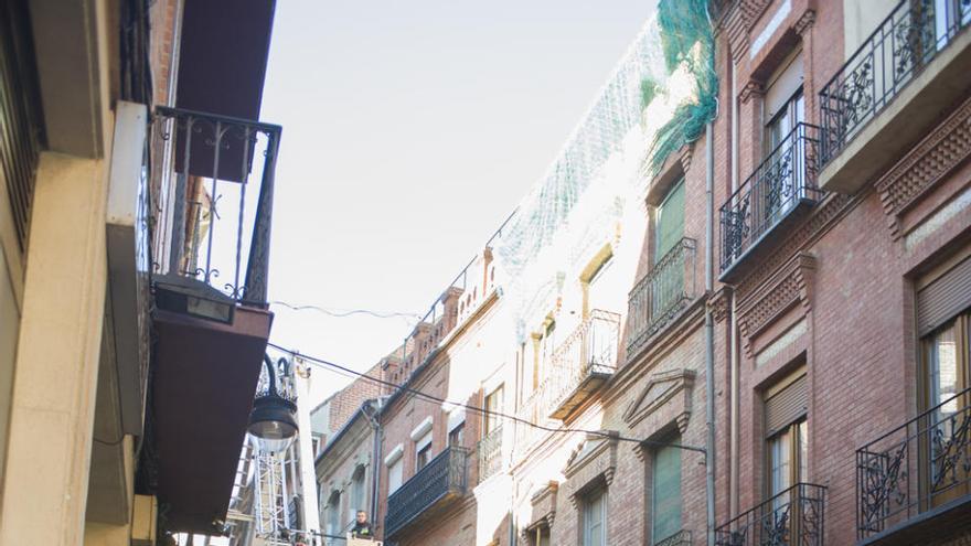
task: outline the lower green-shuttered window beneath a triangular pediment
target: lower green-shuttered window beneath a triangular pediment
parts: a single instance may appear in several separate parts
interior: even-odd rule
[[[670,443],[681,443],[681,438]],[[659,448],[652,462],[651,537],[658,543],[681,531],[681,450]]]

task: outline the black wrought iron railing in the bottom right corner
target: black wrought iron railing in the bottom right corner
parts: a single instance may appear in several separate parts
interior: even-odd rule
[[[856,451],[856,531],[864,539],[971,493],[971,389]]]

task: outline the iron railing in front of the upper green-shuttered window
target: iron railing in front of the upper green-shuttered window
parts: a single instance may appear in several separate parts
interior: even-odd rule
[[[697,297],[695,247],[694,239],[681,239],[630,291],[627,313],[628,358]]]

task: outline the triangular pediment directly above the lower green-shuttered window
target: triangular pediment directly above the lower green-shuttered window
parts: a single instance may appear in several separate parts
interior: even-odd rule
[[[625,410],[623,421],[633,428],[645,418],[660,413],[661,419],[655,420],[651,430],[638,431],[641,437],[651,437],[672,421],[684,433],[691,417],[691,394],[695,376],[693,370],[686,368],[651,374],[643,389]]]

